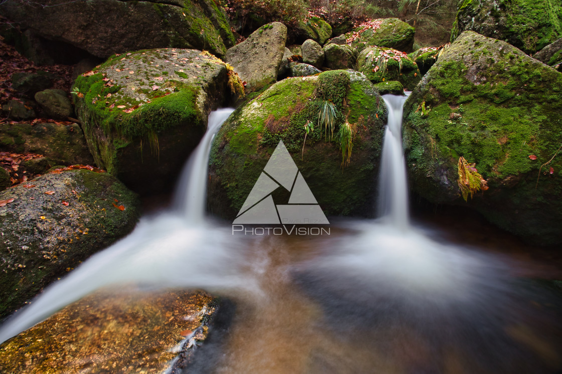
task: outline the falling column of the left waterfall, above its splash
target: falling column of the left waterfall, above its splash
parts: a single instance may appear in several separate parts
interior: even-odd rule
[[[209,153],[211,143],[220,126],[234,112],[232,108],[218,109],[209,115],[207,132],[193,151],[182,171],[176,193],[174,207],[185,215],[189,223],[202,223],[205,218],[205,196],[207,189],[207,171],[209,170]]]

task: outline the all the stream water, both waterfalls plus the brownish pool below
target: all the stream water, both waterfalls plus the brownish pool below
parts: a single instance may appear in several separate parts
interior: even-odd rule
[[[175,210],[143,218],[130,236],[53,284],[3,326],[0,340],[94,289],[142,283],[234,300],[232,321],[211,327],[188,373],[558,372],[559,294],[518,278],[526,265],[409,223],[405,98],[384,100],[379,219],[339,220],[330,236],[247,238],[205,220],[211,125],[224,121],[214,113]]]

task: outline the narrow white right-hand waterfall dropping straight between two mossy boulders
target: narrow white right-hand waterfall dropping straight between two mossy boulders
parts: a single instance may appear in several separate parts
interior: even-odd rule
[[[406,162],[402,151],[402,110],[407,95],[383,96],[388,124],[384,130],[378,198],[379,215],[402,230],[409,227]]]

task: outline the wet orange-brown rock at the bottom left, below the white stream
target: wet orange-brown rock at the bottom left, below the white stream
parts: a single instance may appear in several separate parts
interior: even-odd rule
[[[216,310],[202,292],[102,290],[0,345],[0,372],[164,373],[205,340]]]

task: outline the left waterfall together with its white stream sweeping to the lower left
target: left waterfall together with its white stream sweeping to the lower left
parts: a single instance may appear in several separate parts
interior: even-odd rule
[[[223,290],[252,288],[242,275],[238,248],[206,223],[207,164],[213,136],[233,109],[209,116],[209,127],[184,170],[177,211],[142,218],[128,237],[90,257],[49,286],[0,329],[0,342],[102,287],[141,283],[160,287]],[[257,291],[256,291],[257,292]]]

